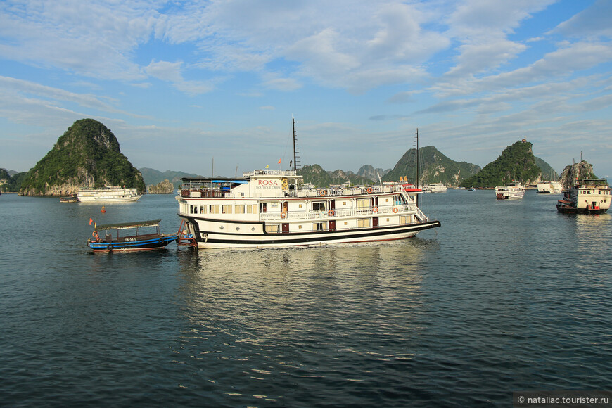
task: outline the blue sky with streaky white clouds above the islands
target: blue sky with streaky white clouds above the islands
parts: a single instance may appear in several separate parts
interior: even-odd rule
[[[523,138],[612,178],[612,0],[2,0],[0,167],[76,120],[135,167],[484,167]],[[278,161],[281,160],[281,165]]]

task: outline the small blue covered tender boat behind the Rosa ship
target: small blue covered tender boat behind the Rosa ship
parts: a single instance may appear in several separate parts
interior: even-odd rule
[[[133,252],[138,250],[154,250],[176,241],[177,234],[161,234],[160,219],[151,221],[122,222],[119,224],[96,225],[93,238],[87,240],[87,246],[96,252]],[[134,234],[120,236],[125,229],[134,229]],[[141,231],[144,229],[144,231]],[[151,231],[154,229],[154,231]],[[115,236],[113,236],[113,230]],[[144,234],[143,234],[144,232]]]

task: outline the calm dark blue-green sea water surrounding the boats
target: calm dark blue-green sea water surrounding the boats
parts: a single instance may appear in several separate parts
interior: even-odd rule
[[[173,196],[0,196],[0,406],[512,405],[610,390],[612,215],[528,191],[424,195],[416,238],[91,254],[98,223],[179,219]]]

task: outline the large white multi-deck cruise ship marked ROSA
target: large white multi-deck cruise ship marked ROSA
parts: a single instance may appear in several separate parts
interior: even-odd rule
[[[295,170],[182,181],[180,235],[198,248],[389,241],[440,227],[418,208],[421,190],[408,184],[314,189],[300,185]]]

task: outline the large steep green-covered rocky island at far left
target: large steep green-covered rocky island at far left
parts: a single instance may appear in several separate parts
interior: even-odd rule
[[[61,196],[83,186],[126,186],[145,191],[142,174],[127,160],[113,132],[93,119],[77,120],[27,172],[24,196]]]

